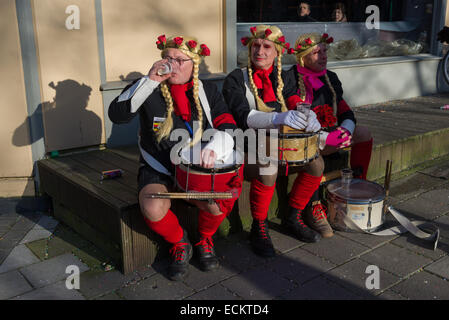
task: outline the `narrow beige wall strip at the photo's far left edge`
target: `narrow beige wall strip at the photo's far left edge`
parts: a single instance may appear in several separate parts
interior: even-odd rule
[[[31,176],[33,164],[22,54],[13,0],[0,1],[0,30],[0,179],[28,177]]]

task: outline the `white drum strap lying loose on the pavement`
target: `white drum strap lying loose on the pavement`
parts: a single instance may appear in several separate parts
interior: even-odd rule
[[[426,221],[410,221],[404,215],[402,215],[398,210],[394,209],[392,206],[388,206],[388,211],[393,215],[393,217],[400,223],[399,226],[394,226],[385,230],[376,231],[376,232],[368,232],[360,228],[354,221],[352,221],[348,216],[344,217],[344,222],[348,227],[353,230],[364,232],[368,234],[372,234],[375,236],[393,236],[405,232],[410,232],[415,237],[423,239],[425,241],[433,241],[433,250],[436,250],[438,245],[438,240],[440,238],[440,229],[434,225],[433,223],[429,223]],[[422,228],[426,228],[431,230],[432,233],[427,233],[418,228],[421,226]]]

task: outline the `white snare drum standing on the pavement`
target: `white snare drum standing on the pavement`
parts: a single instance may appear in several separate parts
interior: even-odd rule
[[[338,231],[376,231],[384,223],[384,199],[384,188],[375,182],[332,181],[326,188],[329,223]],[[352,221],[349,224],[348,219]]]

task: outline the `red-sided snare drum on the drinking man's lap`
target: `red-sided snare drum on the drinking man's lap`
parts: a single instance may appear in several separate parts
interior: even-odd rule
[[[175,167],[177,187],[185,192],[233,192],[240,195],[243,180],[243,155],[233,151],[223,161],[216,161],[214,168],[193,164],[193,152],[180,154],[181,163]],[[235,194],[235,192],[238,192]]]

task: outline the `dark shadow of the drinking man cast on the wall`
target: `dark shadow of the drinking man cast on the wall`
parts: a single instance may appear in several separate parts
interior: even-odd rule
[[[59,81],[56,85],[52,81],[48,86],[56,91],[53,101],[41,103],[25,119],[14,131],[12,143],[24,146],[44,138],[46,152],[99,145],[101,119],[86,109],[92,88],[72,79]],[[28,134],[33,123],[43,123],[44,130]]]

